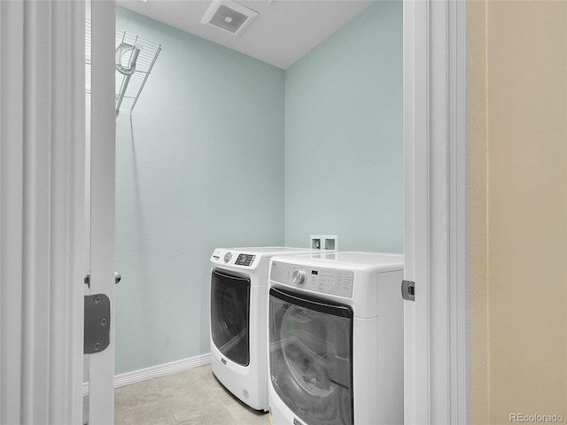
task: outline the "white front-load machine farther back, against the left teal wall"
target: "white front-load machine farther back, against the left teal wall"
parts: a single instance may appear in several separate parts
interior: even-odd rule
[[[211,256],[211,364],[217,379],[256,410],[268,411],[268,267],[275,255],[307,248],[218,248]]]

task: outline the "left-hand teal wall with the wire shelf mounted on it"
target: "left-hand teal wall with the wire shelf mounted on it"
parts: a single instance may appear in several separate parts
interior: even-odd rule
[[[116,121],[116,373],[209,352],[217,246],[283,243],[283,70],[118,8],[162,50]]]

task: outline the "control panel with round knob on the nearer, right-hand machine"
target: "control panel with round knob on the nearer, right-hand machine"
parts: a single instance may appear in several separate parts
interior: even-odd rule
[[[307,267],[272,261],[270,279],[295,288],[339,297],[353,297],[354,273],[351,270]]]

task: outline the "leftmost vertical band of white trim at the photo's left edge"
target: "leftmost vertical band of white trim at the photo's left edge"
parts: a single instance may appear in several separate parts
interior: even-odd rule
[[[0,2],[0,423],[22,405],[23,4]]]

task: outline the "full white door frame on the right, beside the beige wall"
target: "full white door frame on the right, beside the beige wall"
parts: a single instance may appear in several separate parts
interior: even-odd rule
[[[405,423],[470,423],[467,2],[404,2]]]

